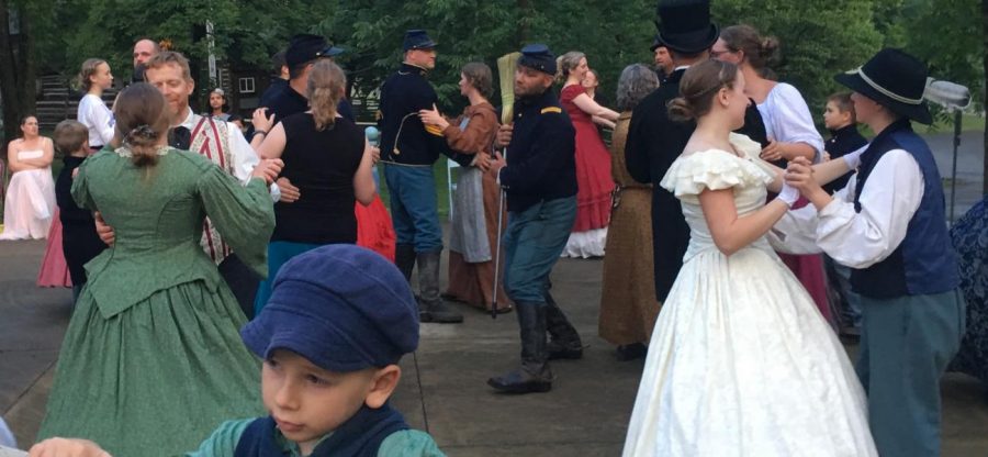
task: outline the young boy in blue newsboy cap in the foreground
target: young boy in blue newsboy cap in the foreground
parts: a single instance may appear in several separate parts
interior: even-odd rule
[[[240,336],[265,359],[269,415],[227,421],[187,456],[445,456],[388,403],[398,360],[418,347],[418,311],[407,281],[384,257],[338,244],[291,259]],[[52,450],[101,449],[63,438],[32,448]]]

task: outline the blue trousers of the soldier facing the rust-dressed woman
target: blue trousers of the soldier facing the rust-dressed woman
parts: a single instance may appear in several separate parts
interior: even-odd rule
[[[433,167],[388,164],[384,179],[397,244],[413,245],[416,253],[442,249]]]

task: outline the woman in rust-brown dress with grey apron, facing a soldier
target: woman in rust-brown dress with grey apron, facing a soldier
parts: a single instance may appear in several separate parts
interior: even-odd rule
[[[499,126],[497,111],[487,101],[493,90],[491,68],[470,63],[460,71],[460,94],[470,105],[454,121],[435,109],[419,112],[427,126],[442,131],[462,166],[453,197],[449,237],[449,288],[446,297],[489,309],[494,300],[494,250],[497,248],[497,199],[501,188],[493,172],[473,164],[484,164]],[[506,219],[505,219],[506,220]],[[498,283],[497,287],[503,287]],[[497,292],[497,309],[508,311],[504,289]]]

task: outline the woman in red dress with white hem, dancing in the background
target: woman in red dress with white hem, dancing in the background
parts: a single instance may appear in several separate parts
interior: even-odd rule
[[[571,51],[559,57],[559,79],[563,80],[559,102],[576,130],[576,222],[563,249],[563,257],[600,257],[610,222],[610,154],[596,124],[614,127],[618,113],[586,94],[581,83],[590,68],[586,56]]]

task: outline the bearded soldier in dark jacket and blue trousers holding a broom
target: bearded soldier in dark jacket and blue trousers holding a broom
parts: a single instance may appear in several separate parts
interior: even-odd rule
[[[547,392],[552,389],[549,359],[583,354],[580,335],[549,293],[549,274],[576,219],[576,131],[552,91],[554,77],[549,47],[521,49],[512,124],[502,126],[495,142],[507,146],[507,161],[497,154],[491,164],[507,196],[504,289],[521,331],[520,369],[487,380],[503,392]]]

